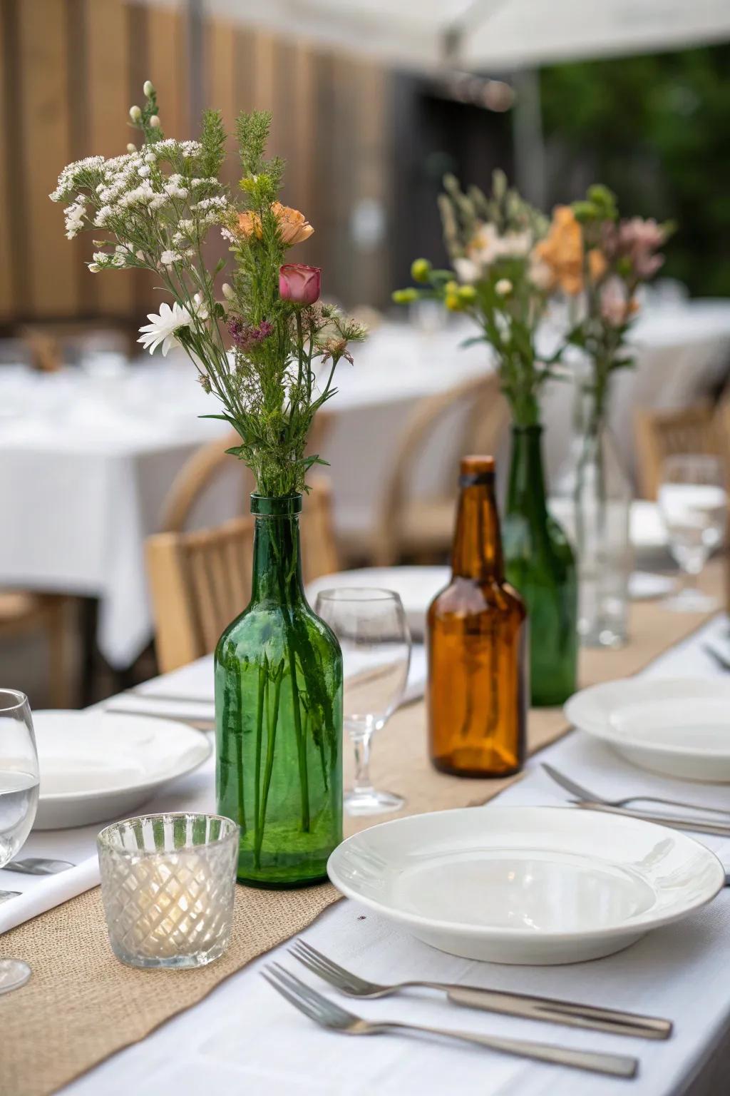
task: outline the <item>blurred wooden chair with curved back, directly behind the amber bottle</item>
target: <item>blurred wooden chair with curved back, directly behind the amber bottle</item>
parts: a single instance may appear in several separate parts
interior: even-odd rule
[[[459,455],[497,449],[509,412],[496,374],[420,400],[406,422],[381,500],[372,545],[375,564],[389,567],[404,557],[432,559],[449,550],[454,532],[455,490],[436,498],[412,498],[410,484],[433,431],[459,408],[465,412]],[[455,483],[455,476],[453,480]]]

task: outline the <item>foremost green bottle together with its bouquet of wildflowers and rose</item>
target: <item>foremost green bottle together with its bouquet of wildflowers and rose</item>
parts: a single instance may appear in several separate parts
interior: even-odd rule
[[[218,801],[241,826],[240,878],[298,886],[324,878],[341,838],[341,654],[304,598],[298,529],[306,473],[325,461],[305,447],[338,363],[351,362],[348,343],[366,332],[320,300],[318,267],[287,261],[314,229],[279,201],[283,162],[265,158],[270,115],[237,118],[234,198],[220,181],[220,113],[205,113],[199,141],[176,140],[149,81],[144,96],[129,112],[141,144],[69,164],[50,196],[69,203],[69,238],[104,237],[92,272],[154,272],[170,301],[140,342],[185,351],[218,400],[210,418],[239,435],[229,452],[255,476],[252,601],[216,650]],[[206,265],[210,231],[230,244],[223,283],[225,261]]]

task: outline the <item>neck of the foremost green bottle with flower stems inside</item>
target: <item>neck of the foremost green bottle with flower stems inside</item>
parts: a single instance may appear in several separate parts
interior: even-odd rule
[[[303,597],[299,514],[256,514],[252,602],[293,605]]]

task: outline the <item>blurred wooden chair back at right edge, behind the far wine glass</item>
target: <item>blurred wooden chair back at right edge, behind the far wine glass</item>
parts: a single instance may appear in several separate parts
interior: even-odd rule
[[[656,499],[667,457],[700,453],[728,458],[720,416],[709,403],[672,411],[639,411],[636,416],[637,476],[645,499]]]

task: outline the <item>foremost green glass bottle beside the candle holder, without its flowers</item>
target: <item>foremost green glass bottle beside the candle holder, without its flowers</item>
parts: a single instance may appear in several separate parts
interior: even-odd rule
[[[251,603],[216,648],[218,810],[241,826],[241,882],[301,887],[343,840],[343,657],[304,597],[301,495],[251,509]]]

